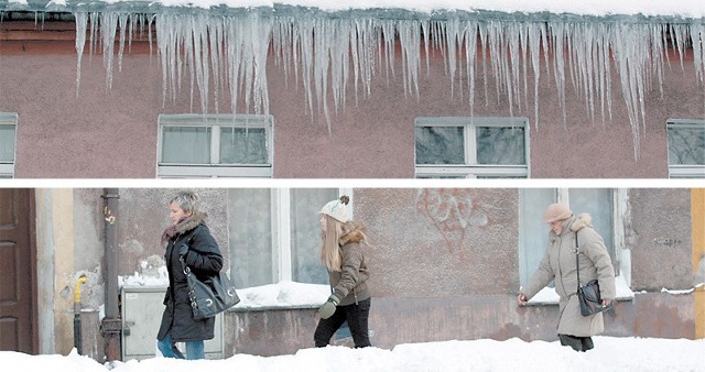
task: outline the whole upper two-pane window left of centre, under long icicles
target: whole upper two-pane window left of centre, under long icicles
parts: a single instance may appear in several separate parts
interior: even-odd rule
[[[271,177],[272,117],[161,114],[158,177]]]

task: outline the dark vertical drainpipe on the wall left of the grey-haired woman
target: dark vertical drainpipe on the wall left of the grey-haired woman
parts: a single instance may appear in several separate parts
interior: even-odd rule
[[[120,333],[122,331],[122,320],[118,309],[118,249],[116,247],[119,198],[117,188],[104,189],[106,317],[100,324],[100,330],[108,361],[120,359]]]

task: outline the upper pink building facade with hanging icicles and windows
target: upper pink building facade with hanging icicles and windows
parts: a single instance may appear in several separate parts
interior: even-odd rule
[[[4,176],[705,177],[697,19],[100,4],[0,3]]]

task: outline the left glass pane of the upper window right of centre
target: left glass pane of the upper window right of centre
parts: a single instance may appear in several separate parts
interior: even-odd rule
[[[463,127],[416,127],[416,164],[465,164]]]

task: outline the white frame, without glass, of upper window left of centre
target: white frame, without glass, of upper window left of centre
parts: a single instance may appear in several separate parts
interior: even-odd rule
[[[156,136],[158,178],[216,178],[273,176],[274,119],[269,114],[160,114]],[[210,128],[212,164],[166,163],[162,160],[163,133],[169,127]],[[268,149],[267,164],[218,164],[220,128],[264,128]]]

